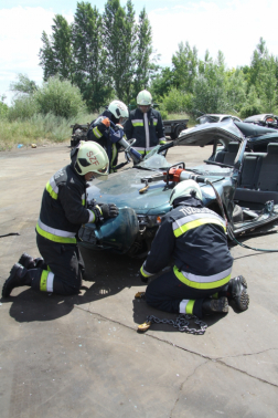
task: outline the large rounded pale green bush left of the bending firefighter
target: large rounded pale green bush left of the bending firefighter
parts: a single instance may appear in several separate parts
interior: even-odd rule
[[[81,91],[70,81],[61,81],[58,77],[50,77],[33,94],[39,107],[39,113],[52,113],[55,116],[73,117],[85,109]]]

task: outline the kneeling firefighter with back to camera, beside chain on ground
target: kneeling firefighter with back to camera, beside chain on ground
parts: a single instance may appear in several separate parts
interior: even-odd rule
[[[222,217],[202,203],[194,180],[180,182],[170,196],[173,209],[163,216],[151,251],[140,269],[143,282],[169,265],[174,267],[147,286],[146,301],[158,310],[193,314],[227,313],[228,303],[245,311],[249,296],[239,275],[231,279],[233,258]]]

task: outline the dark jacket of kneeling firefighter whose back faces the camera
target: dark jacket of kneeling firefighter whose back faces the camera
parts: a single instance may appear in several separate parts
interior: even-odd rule
[[[194,289],[216,289],[229,281],[233,265],[225,221],[200,200],[190,201],[191,206],[181,201],[162,218],[141,273],[146,278],[156,274],[173,258],[173,272],[181,282]]]

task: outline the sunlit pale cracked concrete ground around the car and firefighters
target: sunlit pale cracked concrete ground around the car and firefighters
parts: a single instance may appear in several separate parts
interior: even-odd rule
[[[39,255],[42,191],[68,151],[61,144],[0,154],[1,288],[23,251]],[[206,156],[177,147],[168,159],[192,166]],[[278,249],[275,233],[245,243]],[[83,250],[79,295],[14,289],[0,302],[1,418],[277,417],[277,254],[240,247],[232,254],[233,274],[248,282],[249,309],[206,317],[203,336],[169,325],[137,333],[148,314],[175,317],[135,300],[145,290],[139,260]]]

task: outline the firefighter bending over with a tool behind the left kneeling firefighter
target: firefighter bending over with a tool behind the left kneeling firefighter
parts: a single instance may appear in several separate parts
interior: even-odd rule
[[[118,163],[119,140],[125,136],[122,124],[128,117],[128,108],[120,101],[113,101],[106,111],[93,121],[87,132],[88,140],[95,140],[106,150],[109,173],[115,173]]]

